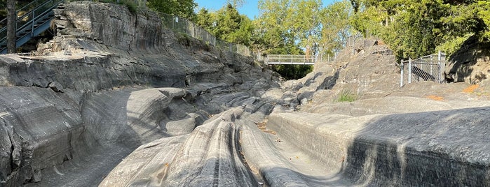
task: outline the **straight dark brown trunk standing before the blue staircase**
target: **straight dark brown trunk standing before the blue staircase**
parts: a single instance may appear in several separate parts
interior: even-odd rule
[[[15,15],[15,0],[7,0],[7,53],[15,53],[17,15]]]

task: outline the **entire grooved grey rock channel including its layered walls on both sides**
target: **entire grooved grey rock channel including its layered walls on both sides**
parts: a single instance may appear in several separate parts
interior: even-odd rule
[[[0,186],[490,186],[485,84],[399,89],[372,40],[280,82],[153,13],[55,13],[44,55],[0,56]]]

